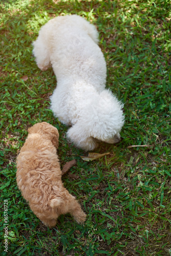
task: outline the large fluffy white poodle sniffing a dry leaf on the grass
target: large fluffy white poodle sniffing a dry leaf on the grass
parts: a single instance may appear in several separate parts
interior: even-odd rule
[[[49,20],[33,42],[37,66],[47,70],[52,65],[57,78],[51,109],[72,126],[70,141],[86,151],[98,140],[119,142],[124,123],[122,104],[105,89],[106,63],[97,44],[96,28],[77,15]]]

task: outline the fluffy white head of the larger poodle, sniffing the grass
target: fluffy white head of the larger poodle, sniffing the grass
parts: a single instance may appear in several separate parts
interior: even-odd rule
[[[124,124],[121,104],[112,92],[104,90],[89,104],[81,118],[72,126],[67,135],[77,147],[86,151],[94,150],[96,141],[117,143]]]

